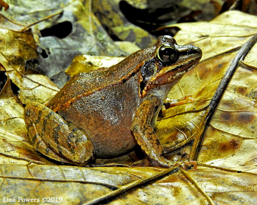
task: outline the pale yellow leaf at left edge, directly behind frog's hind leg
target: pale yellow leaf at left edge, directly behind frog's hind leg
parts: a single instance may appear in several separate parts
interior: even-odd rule
[[[23,107],[11,89],[10,78],[0,93],[0,161],[1,163],[50,163],[39,157],[27,141]]]

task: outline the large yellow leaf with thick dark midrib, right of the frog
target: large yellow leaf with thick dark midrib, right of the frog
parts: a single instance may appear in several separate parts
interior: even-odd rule
[[[192,44],[203,50],[200,64],[183,76],[168,97],[179,99],[193,95],[194,103],[168,109],[158,122],[156,132],[165,149],[174,150],[190,141],[199,131],[206,106],[238,48],[257,32],[257,17],[238,11],[226,12],[210,23],[177,24],[179,44]],[[187,33],[188,32],[188,33]],[[194,33],[192,33],[194,32]],[[187,42],[185,42],[187,39]],[[256,166],[256,63],[254,46],[227,86],[205,132],[197,160],[215,166],[233,168],[244,164]],[[250,64],[250,65],[249,65]],[[200,128],[204,129],[204,128]],[[187,140],[189,139],[189,140]],[[192,139],[192,138],[191,138]],[[189,158],[187,144],[168,157],[183,161]]]

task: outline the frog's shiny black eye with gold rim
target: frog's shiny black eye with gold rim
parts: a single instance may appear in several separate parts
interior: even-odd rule
[[[173,63],[177,58],[177,49],[172,44],[163,44],[158,49],[157,56],[164,63]]]

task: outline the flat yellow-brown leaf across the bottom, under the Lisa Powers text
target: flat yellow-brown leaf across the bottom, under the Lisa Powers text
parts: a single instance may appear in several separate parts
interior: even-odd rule
[[[254,204],[256,175],[198,166],[179,168],[83,168],[72,166],[1,165],[0,198],[51,198],[61,204]],[[71,174],[72,173],[72,174]],[[4,177],[4,178],[3,178]],[[147,182],[148,183],[145,183]],[[134,189],[132,189],[134,188]],[[127,190],[126,193],[122,193]],[[106,202],[106,201],[103,201]],[[53,203],[53,202],[52,202]],[[51,203],[51,204],[52,204]]]

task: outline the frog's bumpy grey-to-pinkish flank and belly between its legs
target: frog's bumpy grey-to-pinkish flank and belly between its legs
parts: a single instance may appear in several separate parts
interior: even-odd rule
[[[117,91],[96,93],[76,101],[67,111],[60,110],[59,114],[89,134],[96,156],[119,155],[137,144],[131,124],[138,102],[128,96]]]

